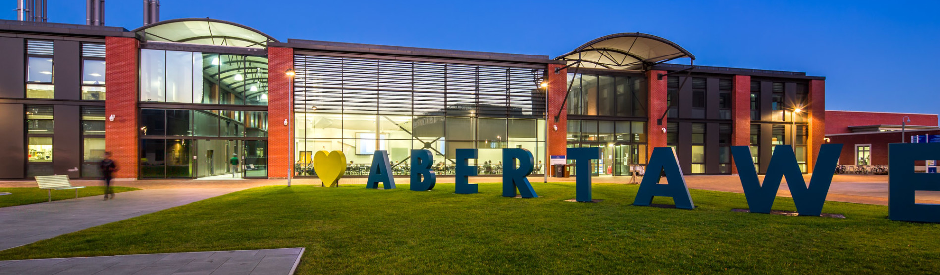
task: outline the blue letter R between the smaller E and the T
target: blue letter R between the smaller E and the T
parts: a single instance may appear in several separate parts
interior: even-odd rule
[[[519,160],[519,169],[516,169],[516,160]],[[516,188],[523,198],[537,198],[535,189],[525,178],[532,174],[535,158],[525,148],[503,148],[503,197],[515,197]]]

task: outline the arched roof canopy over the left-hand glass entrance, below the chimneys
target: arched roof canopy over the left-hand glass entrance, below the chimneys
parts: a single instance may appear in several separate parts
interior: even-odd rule
[[[273,37],[243,24],[209,18],[161,21],[133,30],[145,41],[170,41],[207,45],[267,48]]]

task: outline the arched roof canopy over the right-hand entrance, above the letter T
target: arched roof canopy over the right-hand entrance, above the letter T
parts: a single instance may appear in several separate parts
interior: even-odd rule
[[[692,53],[670,40],[632,32],[590,40],[555,59],[582,68],[647,71],[656,63],[683,57],[696,59]]]

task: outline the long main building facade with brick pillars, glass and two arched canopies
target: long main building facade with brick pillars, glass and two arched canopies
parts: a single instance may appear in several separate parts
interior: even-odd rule
[[[321,150],[354,176],[377,150],[405,175],[427,149],[448,175],[458,148],[479,150],[481,175],[524,148],[538,174],[567,147],[601,147],[593,173],[628,175],[665,146],[687,174],[731,174],[729,146],[750,146],[761,172],[781,144],[811,171],[823,142],[823,77],[670,64],[695,56],[641,33],[551,58],[280,41],[211,19],[0,21],[0,48],[4,179],[94,178],[105,151],[132,179],[312,177]]]

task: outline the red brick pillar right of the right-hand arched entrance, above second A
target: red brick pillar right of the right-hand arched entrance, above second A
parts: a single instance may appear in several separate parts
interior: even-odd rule
[[[647,85],[650,88],[650,96],[648,97],[649,101],[647,102],[648,109],[650,113],[647,114],[649,119],[647,121],[647,161],[650,160],[650,155],[652,155],[652,149],[656,147],[666,147],[666,133],[663,133],[663,129],[666,128],[666,110],[669,106],[666,105],[666,77],[663,77],[663,80],[657,79],[659,73],[666,73],[666,71],[648,71],[647,72]],[[659,119],[663,118],[662,123]]]

